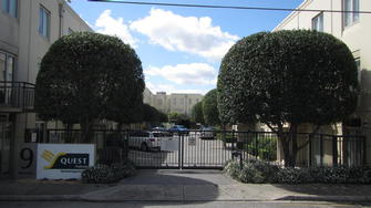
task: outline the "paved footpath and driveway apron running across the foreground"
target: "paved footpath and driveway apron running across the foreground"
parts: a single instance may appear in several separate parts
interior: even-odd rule
[[[349,201],[371,202],[371,185],[240,184],[218,170],[141,170],[114,185],[0,180],[2,201]]]

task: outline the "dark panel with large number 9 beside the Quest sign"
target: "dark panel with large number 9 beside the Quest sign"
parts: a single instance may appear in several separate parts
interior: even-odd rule
[[[17,178],[35,178],[37,176],[37,145],[24,143],[18,150]]]

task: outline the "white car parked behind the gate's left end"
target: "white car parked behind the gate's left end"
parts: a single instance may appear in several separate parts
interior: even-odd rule
[[[140,148],[143,152],[152,149],[161,150],[161,143],[172,139],[173,136],[162,132],[132,132],[130,133],[128,146]]]

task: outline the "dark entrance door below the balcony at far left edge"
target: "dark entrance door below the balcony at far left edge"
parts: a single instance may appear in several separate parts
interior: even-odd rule
[[[7,114],[0,114],[0,177],[9,176],[11,123]]]

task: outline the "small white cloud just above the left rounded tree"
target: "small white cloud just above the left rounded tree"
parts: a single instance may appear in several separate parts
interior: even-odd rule
[[[128,27],[125,24],[123,18],[114,19],[111,15],[111,10],[104,10],[95,21],[96,32],[110,35],[116,35],[124,43],[136,48],[137,40],[130,33]]]

